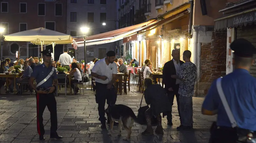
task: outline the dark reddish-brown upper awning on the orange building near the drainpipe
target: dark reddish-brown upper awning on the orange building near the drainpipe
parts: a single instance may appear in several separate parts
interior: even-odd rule
[[[188,9],[185,9],[185,10],[183,10],[183,11],[181,11],[181,12],[175,14],[175,15],[172,15],[172,16],[170,16],[170,17],[168,17],[168,18],[165,18],[164,20],[161,20],[161,21],[159,21],[159,22],[156,22],[155,24],[152,24],[152,25],[150,25],[150,26],[147,27],[147,28],[141,29],[141,30],[138,31],[137,33],[146,32],[146,30],[150,30],[150,29],[152,29],[152,28],[157,28],[157,27],[159,27],[159,26],[161,26],[161,25],[167,24],[167,23],[169,23],[169,22],[171,22],[171,21],[173,21],[173,20],[175,20],[175,19],[177,19],[177,18],[180,18],[180,17],[183,16],[183,15],[186,15],[187,13],[188,13]]]

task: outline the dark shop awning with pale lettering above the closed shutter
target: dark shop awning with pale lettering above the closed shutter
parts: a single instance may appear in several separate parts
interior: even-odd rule
[[[248,24],[251,25],[253,23],[256,24],[256,8],[222,17],[214,21],[215,31],[226,30],[227,28],[242,27]]]

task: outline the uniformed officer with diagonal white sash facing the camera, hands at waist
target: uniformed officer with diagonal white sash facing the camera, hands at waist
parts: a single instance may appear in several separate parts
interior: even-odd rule
[[[55,67],[50,65],[51,50],[44,50],[41,52],[43,64],[34,68],[30,76],[29,84],[36,91],[37,98],[37,132],[39,139],[44,140],[44,124],[43,113],[47,106],[51,113],[51,134],[50,138],[61,139],[57,134],[57,107],[54,92],[58,87],[58,77]],[[34,85],[36,80],[37,85]]]

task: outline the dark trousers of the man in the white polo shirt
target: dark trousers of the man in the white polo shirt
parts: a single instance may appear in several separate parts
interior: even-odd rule
[[[114,105],[116,104],[116,98],[117,94],[115,91],[114,85],[112,85],[111,89],[107,88],[108,84],[101,84],[99,82],[96,83],[96,95],[95,95],[95,100],[96,103],[98,103],[98,112],[99,112],[99,121],[101,121],[101,124],[106,123],[106,118],[105,118],[105,103],[107,100],[107,104],[109,105]]]

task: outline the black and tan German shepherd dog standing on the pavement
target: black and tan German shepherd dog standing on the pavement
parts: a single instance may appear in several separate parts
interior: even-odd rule
[[[122,122],[125,130],[127,131],[127,136],[124,138],[124,140],[129,140],[131,137],[132,133],[132,127],[133,127],[133,122],[139,122],[138,118],[134,114],[133,110],[126,106],[126,105],[111,105],[105,110],[106,114],[108,115],[108,118],[110,120],[110,131],[108,135],[112,134],[112,129],[114,125],[114,121],[118,121],[119,126],[119,136],[121,136],[122,132]]]

